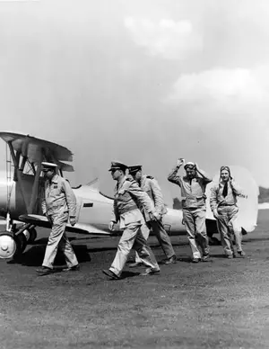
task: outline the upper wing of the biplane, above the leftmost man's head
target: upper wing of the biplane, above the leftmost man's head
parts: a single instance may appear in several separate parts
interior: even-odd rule
[[[73,161],[72,152],[56,143],[45,139],[37,139],[29,135],[13,132],[0,132],[0,137],[11,143],[15,151],[22,153],[22,157],[27,157],[30,163],[39,164],[42,161],[56,163],[63,171],[73,172],[73,166],[62,161]]]

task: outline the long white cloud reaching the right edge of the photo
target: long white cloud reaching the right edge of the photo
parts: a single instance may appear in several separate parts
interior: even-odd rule
[[[167,103],[191,104],[225,112],[243,112],[269,106],[268,67],[213,68],[184,74],[173,85]]]

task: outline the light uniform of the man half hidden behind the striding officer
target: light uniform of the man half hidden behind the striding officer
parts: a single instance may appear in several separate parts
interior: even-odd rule
[[[155,210],[157,211],[157,213],[161,214],[162,219],[162,216],[167,213],[167,209],[164,205],[159,183],[151,175],[143,175],[140,182],[140,187],[143,192],[146,192],[152,199]],[[169,259],[173,255],[175,255],[175,251],[169,239],[169,235],[163,228],[161,219],[158,221],[152,220],[147,210],[145,210],[144,208],[142,208],[142,210],[143,217],[146,222],[146,224],[143,224],[142,227],[143,237],[147,240],[150,234],[150,228],[152,228],[153,233],[158,238],[164,254],[166,255],[167,259]],[[137,254],[135,254],[135,262],[141,263],[141,260]]]

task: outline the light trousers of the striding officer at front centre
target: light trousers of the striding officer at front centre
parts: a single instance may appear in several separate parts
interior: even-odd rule
[[[117,276],[120,276],[122,273],[132,248],[137,252],[143,264],[152,269],[160,269],[151,247],[147,245],[143,237],[141,226],[142,224],[137,222],[126,224],[124,228],[118,242],[117,254],[109,268]]]

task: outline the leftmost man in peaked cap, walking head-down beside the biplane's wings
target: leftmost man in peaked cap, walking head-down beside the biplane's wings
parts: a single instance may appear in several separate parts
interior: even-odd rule
[[[76,222],[74,192],[65,178],[56,174],[56,164],[43,162],[41,165],[45,176],[42,211],[47,216],[52,229],[48,237],[48,245],[42,266],[37,269],[37,273],[40,275],[54,273],[53,264],[58,248],[65,255],[67,268],[64,271],[77,271],[79,270],[79,264],[68,237],[65,235],[68,218],[72,226]]]

